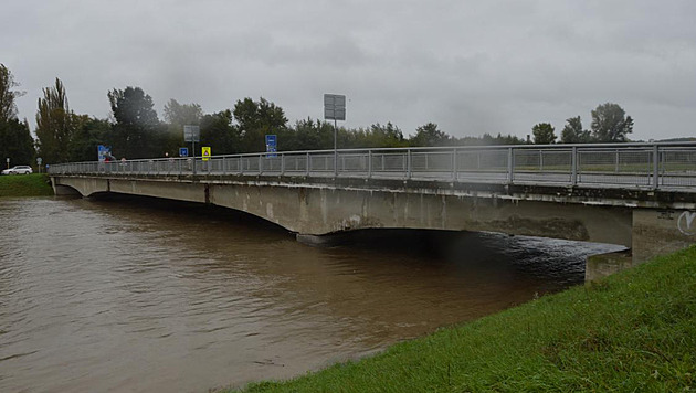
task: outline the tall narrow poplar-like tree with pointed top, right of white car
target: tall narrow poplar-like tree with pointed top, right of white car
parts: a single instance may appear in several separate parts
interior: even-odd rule
[[[56,77],[54,86],[43,89],[36,111],[36,144],[44,162],[70,161],[68,145],[75,128],[73,120],[65,86]]]

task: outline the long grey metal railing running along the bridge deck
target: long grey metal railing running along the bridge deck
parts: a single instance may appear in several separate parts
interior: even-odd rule
[[[299,176],[696,189],[696,142],[278,151],[53,164],[53,174]]]

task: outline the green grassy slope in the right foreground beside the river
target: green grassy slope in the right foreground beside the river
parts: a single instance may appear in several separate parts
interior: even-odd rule
[[[696,247],[249,392],[696,389]]]

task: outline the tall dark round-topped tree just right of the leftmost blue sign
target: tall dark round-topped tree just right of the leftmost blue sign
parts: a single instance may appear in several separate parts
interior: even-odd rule
[[[151,158],[164,156],[162,139],[152,97],[140,87],[109,91],[108,100],[116,124],[112,128],[112,151],[116,157]]]

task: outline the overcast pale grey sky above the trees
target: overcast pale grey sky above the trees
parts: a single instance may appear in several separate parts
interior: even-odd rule
[[[633,140],[696,136],[696,1],[6,0],[0,63],[20,118],[63,81],[71,109],[107,118],[107,92],[141,87],[204,113],[264,97],[291,124],[347,97],[346,121],[435,123],[525,138],[538,123],[615,103]]]

